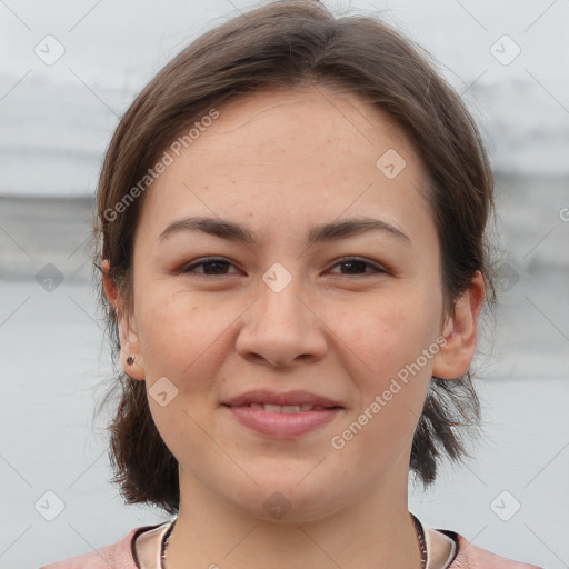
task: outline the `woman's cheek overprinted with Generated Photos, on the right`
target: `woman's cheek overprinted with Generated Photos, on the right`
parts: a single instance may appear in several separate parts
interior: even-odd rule
[[[368,303],[357,317],[345,316],[340,326],[357,356],[352,361],[361,369],[352,376],[360,391],[355,415],[362,429],[357,446],[383,449],[386,456],[398,453],[412,438],[436,353],[423,356],[436,339],[437,303],[420,291],[407,292]]]

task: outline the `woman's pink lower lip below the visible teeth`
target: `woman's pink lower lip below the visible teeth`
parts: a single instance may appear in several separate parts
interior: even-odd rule
[[[276,413],[251,407],[229,407],[233,417],[253,431],[276,439],[289,439],[307,435],[331,422],[342,408],[326,411],[301,411],[298,413]]]

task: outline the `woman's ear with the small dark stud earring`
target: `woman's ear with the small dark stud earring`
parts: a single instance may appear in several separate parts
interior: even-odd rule
[[[123,299],[118,295],[117,287],[110,274],[110,262],[107,259],[102,261],[101,271],[104,295],[117,313],[120,337],[120,363],[124,373],[132,379],[143,380],[146,379],[144,360],[140,350],[137,328],[132,326],[132,318],[122,308]],[[133,359],[132,363],[129,363],[131,361],[129,358]]]

